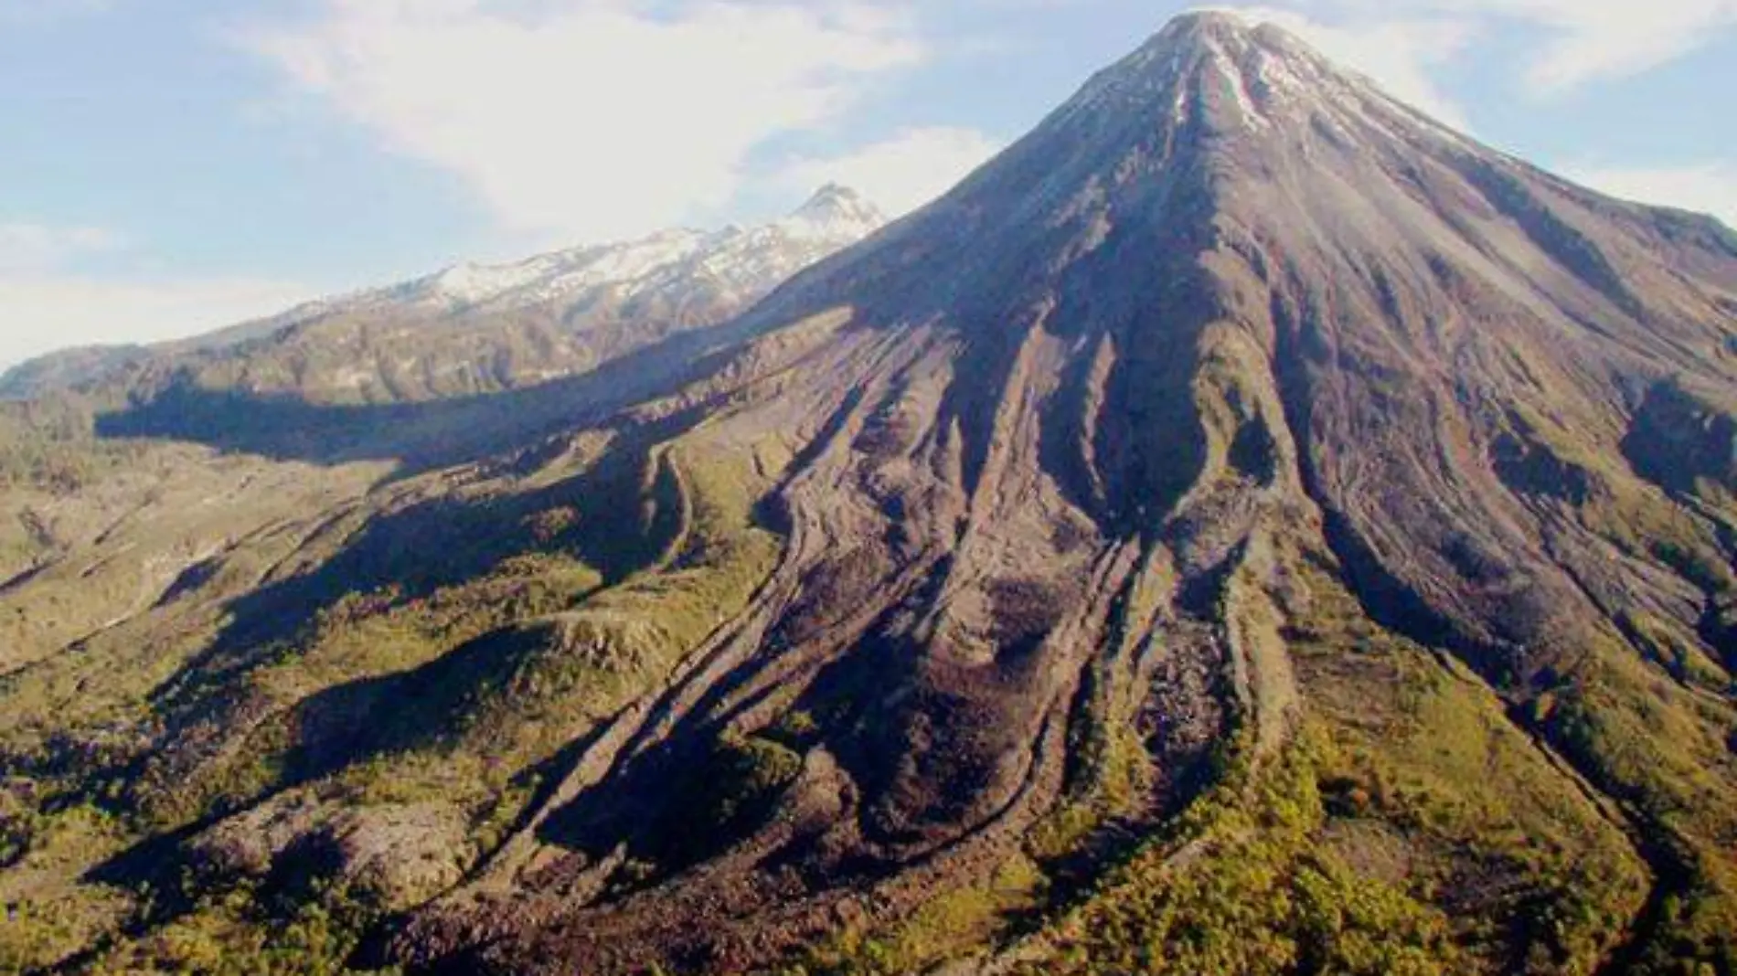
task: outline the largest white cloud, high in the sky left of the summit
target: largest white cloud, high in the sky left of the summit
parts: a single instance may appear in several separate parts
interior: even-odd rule
[[[907,19],[848,0],[502,7],[325,0],[314,23],[241,43],[391,149],[457,174],[504,228],[545,240],[717,208],[756,146],[835,120],[922,57]]]

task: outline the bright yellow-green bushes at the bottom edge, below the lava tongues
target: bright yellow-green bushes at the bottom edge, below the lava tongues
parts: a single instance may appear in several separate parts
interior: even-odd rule
[[[1037,973],[1463,973],[1447,917],[1358,875],[1311,839],[1325,821],[1324,747],[1304,736],[1270,769],[1233,768],[1098,894],[1047,934]]]

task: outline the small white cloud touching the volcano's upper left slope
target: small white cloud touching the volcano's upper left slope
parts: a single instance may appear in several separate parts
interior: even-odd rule
[[[1001,148],[1002,142],[974,129],[907,129],[841,156],[799,158],[787,163],[775,182],[789,193],[841,182],[888,215],[902,215],[952,189]]]

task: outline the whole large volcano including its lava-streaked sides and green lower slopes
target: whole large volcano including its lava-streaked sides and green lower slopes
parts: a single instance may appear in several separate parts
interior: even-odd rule
[[[655,368],[38,644],[0,953],[1734,973],[1734,349],[1727,228],[1181,17]]]

